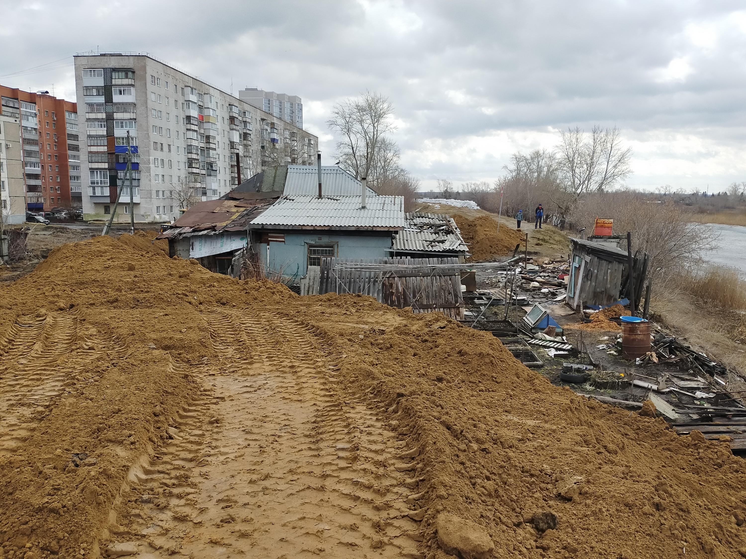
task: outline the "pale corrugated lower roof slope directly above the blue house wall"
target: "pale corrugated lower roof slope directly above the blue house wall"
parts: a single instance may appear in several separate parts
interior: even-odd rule
[[[251,221],[249,227],[401,230],[404,198],[372,196],[363,209],[358,196],[286,196]]]

